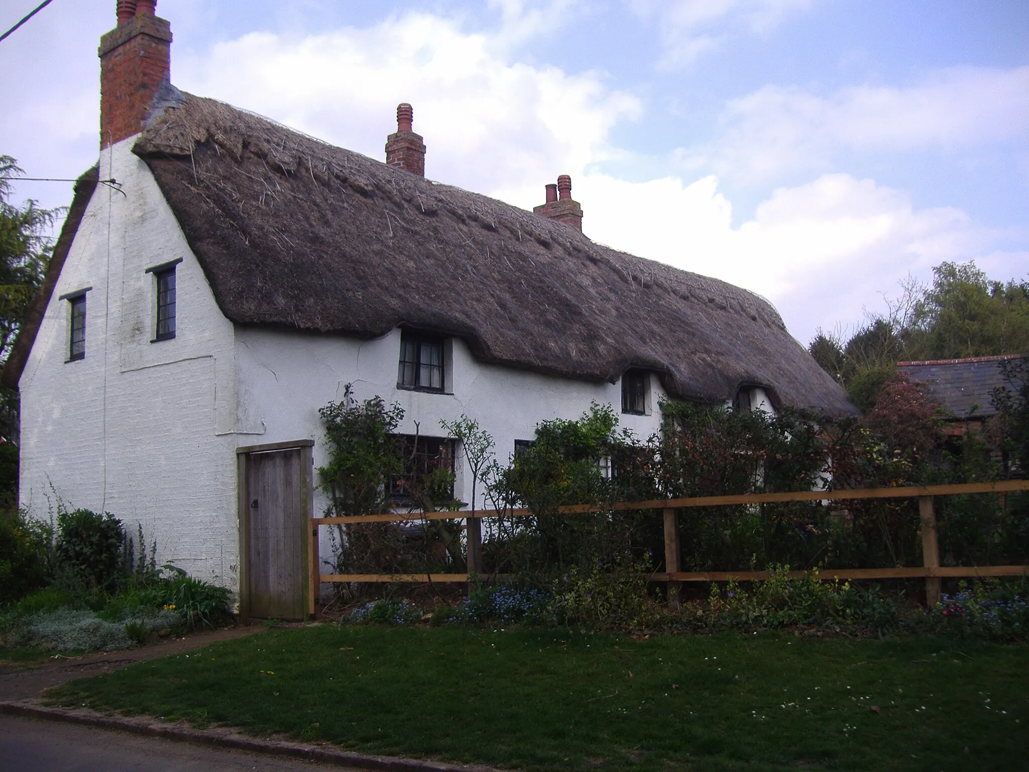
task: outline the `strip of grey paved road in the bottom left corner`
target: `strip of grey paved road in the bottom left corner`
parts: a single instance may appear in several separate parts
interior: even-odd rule
[[[2,772],[317,772],[341,769],[0,713]]]

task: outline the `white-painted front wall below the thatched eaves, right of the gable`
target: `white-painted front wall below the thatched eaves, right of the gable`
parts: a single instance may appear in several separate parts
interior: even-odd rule
[[[496,443],[495,453],[506,463],[516,440],[531,440],[536,425],[552,418],[577,419],[592,400],[611,405],[620,425],[646,438],[661,422],[657,405],[665,395],[655,377],[649,379],[650,415],[622,414],[622,384],[591,383],[484,364],[471,355],[467,345],[452,341],[452,393],[427,393],[397,389],[400,330],[372,340],[316,337],[257,328],[237,329],[236,361],[239,367],[237,402],[241,427],[259,430],[259,437],[241,438],[241,445],[314,440],[315,466],[327,462],[324,428],[318,409],[344,396],[347,383],[353,384],[356,399],[381,396],[404,410],[398,428],[402,433],[418,431],[427,436],[446,436],[440,420],[454,421],[462,414],[478,421]],[[459,457],[455,495],[470,501],[471,476],[463,456]],[[476,506],[486,505],[478,487]],[[328,501],[316,491],[315,513],[320,515]],[[322,529],[322,555],[329,554],[327,529]]]

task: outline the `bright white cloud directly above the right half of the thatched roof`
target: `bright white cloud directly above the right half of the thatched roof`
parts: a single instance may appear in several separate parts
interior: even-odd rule
[[[1004,278],[1029,260],[996,251],[1008,235],[960,210],[915,209],[902,192],[847,174],[779,188],[738,227],[714,176],[683,184],[588,175],[576,187],[592,238],[759,292],[803,342],[816,327],[859,322],[880,293],[895,293],[909,273],[927,278],[943,260],[978,258]]]

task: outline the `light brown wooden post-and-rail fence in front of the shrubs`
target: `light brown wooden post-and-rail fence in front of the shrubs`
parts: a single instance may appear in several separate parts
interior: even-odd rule
[[[680,571],[679,570],[679,524],[678,510],[691,506],[725,506],[732,504],[783,503],[788,501],[839,501],[843,499],[866,498],[917,498],[922,536],[922,566],[915,568],[826,568],[822,575],[839,580],[864,578],[925,578],[926,604],[930,607],[939,600],[939,581],[952,576],[1021,576],[1029,573],[1026,565],[990,566],[941,566],[939,547],[936,540],[936,516],[933,507],[935,496],[956,496],[968,493],[1009,493],[1029,490],[1029,480],[1005,480],[996,483],[963,483],[959,485],[929,485],[906,488],[858,488],[838,491],[797,491],[793,493],[742,493],[732,496],[702,496],[698,498],[654,499],[650,501],[618,501],[614,504],[574,504],[563,506],[560,512],[576,514],[588,512],[611,512],[626,510],[662,510],[665,521],[665,567],[666,571],[654,572],[651,582],[668,584],[668,598],[673,605],[678,604],[679,585],[683,582],[725,582],[735,578],[741,582],[767,580],[768,571]],[[471,512],[412,512],[386,513],[382,515],[355,515],[352,517],[312,518],[308,546],[310,607],[315,613],[315,598],[318,584],[325,583],[427,583],[427,582],[469,582],[468,573],[321,573],[318,556],[318,528],[346,523],[404,523],[422,520],[480,519],[497,517],[525,517],[532,515],[529,510],[478,510]],[[468,529],[469,537],[478,529]],[[477,545],[472,546],[472,554],[481,555]],[[474,573],[478,566],[469,566]],[[801,576],[804,571],[790,571],[791,576]]]

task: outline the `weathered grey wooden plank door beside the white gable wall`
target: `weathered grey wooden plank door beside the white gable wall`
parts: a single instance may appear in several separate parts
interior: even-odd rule
[[[255,449],[239,458],[243,612],[304,619],[311,448]]]

